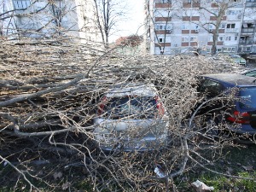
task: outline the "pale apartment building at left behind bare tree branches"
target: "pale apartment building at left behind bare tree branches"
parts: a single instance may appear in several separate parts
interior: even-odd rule
[[[87,0],[3,0],[3,35],[8,38],[77,37],[96,41],[92,1]]]

